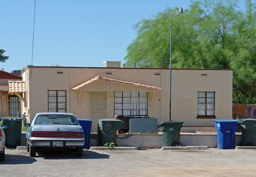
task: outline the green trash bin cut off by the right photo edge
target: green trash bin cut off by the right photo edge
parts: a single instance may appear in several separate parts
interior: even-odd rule
[[[237,130],[242,132],[242,142],[239,146],[256,146],[256,119],[237,119]]]

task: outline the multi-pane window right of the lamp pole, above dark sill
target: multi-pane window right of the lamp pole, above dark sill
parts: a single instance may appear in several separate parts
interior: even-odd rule
[[[197,115],[214,116],[215,92],[198,92]]]

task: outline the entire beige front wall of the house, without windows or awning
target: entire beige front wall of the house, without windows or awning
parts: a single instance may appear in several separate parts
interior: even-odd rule
[[[57,71],[63,74],[56,74]],[[112,72],[112,74],[107,75],[106,72]],[[154,73],[160,73],[160,75],[154,75]],[[201,73],[207,73],[207,76],[201,76]],[[151,105],[148,98],[148,116],[158,118],[159,125],[163,121],[169,121],[169,69],[29,67],[22,76],[29,93],[28,107],[24,107],[24,112],[29,111],[31,121],[35,113],[48,111],[48,90],[67,90],[67,112],[74,113],[77,118],[87,119],[89,118],[89,92],[82,92],[81,106],[78,106],[78,91],[72,88],[98,75],[160,87],[161,90],[155,92]],[[232,70],[173,69],[172,120],[184,121],[185,126],[214,125],[213,119],[196,118],[198,91],[215,91],[216,117],[231,118]],[[108,118],[113,118],[114,115],[113,94],[108,92]],[[148,94],[148,97],[150,95]],[[189,107],[186,108],[186,105]]]

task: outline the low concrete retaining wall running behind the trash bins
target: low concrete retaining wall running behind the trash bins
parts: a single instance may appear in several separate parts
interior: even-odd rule
[[[21,146],[26,146],[26,135],[21,136]],[[180,142],[182,146],[208,146],[216,148],[217,134],[211,133],[180,133]],[[241,142],[241,135],[235,136],[235,147]],[[118,134],[118,146],[139,146],[140,148],[154,149],[163,146],[162,135],[149,134]],[[90,147],[97,146],[97,134],[91,133]]]

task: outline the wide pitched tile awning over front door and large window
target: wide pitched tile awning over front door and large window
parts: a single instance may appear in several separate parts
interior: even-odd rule
[[[141,83],[133,83],[120,81],[117,79],[109,79],[106,77],[96,76],[95,78],[78,85],[73,90],[77,91],[122,91],[122,92],[155,92],[161,90],[159,87],[143,85]]]

